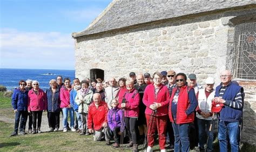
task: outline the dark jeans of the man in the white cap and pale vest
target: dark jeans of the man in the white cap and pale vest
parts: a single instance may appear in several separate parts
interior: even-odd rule
[[[197,118],[198,135],[199,135],[199,148],[202,149],[202,150],[204,149],[204,145],[205,145],[205,133],[206,133],[207,136],[209,136],[208,144],[207,144],[207,151],[213,151],[212,142],[213,142],[213,131],[214,131],[214,121],[215,120],[213,120],[213,122],[212,122],[212,124],[213,124],[212,125],[212,131],[209,135],[209,129],[210,129],[211,121],[212,120],[205,120],[205,119]],[[206,129],[207,132],[205,132],[205,129]]]

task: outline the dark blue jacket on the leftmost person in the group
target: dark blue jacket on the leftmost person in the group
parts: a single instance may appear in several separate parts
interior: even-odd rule
[[[27,111],[28,110],[28,90],[22,92],[19,88],[14,90],[11,97],[11,104],[14,110]]]

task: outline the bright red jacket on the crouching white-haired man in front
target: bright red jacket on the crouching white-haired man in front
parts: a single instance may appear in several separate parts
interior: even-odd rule
[[[102,128],[102,124],[107,122],[107,107],[106,102],[101,101],[98,108],[95,105],[95,102],[91,103],[88,109],[88,120],[87,125],[89,129],[95,129],[99,131]]]

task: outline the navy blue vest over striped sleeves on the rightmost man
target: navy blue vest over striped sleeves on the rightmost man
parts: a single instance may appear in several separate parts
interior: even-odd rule
[[[219,86],[217,86],[215,91],[215,97],[219,97],[219,91],[221,88],[221,83]],[[235,100],[235,96],[239,93],[241,90],[241,86],[235,85],[232,82],[227,85],[226,91],[224,92],[223,99],[224,100]],[[229,121],[229,122],[236,122],[240,121],[242,115],[242,108],[236,109],[229,107],[227,105],[224,105],[223,108],[220,111],[220,120],[222,121]]]

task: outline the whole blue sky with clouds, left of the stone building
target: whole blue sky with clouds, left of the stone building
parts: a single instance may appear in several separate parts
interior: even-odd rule
[[[1,0],[0,68],[75,69],[72,32],[111,0]]]

